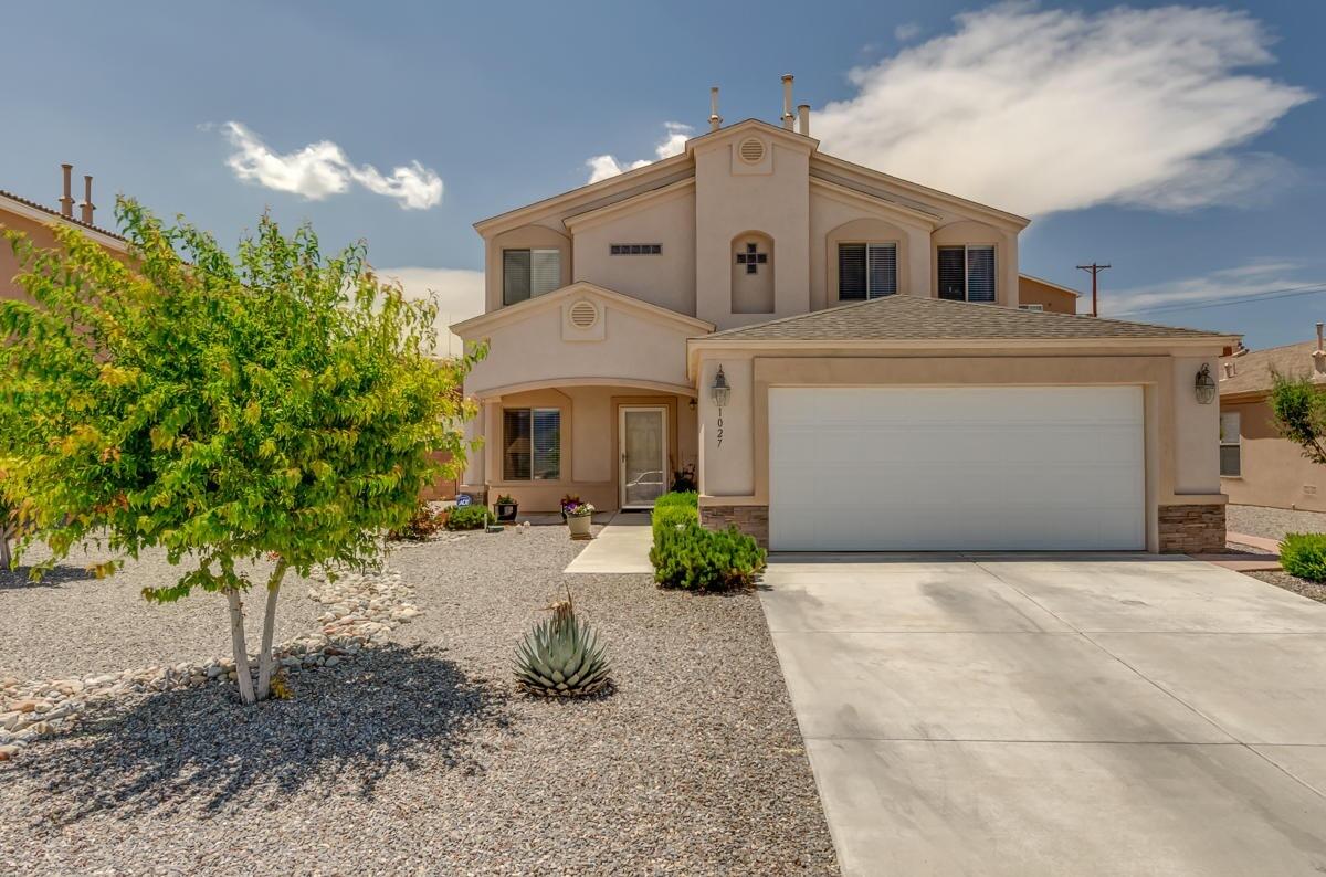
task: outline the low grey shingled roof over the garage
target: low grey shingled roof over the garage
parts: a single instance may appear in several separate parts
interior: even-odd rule
[[[732,342],[1220,339],[1227,334],[1001,305],[888,295],[715,333]]]

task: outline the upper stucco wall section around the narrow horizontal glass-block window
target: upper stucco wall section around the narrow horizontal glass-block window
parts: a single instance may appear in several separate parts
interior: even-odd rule
[[[695,188],[574,228],[574,280],[695,315]],[[613,244],[660,244],[658,256],[613,256]]]

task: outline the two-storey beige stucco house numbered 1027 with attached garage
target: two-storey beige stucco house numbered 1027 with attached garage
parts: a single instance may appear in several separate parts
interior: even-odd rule
[[[782,126],[715,109],[475,225],[463,489],[648,506],[695,465],[703,521],[776,550],[1221,550],[1195,382],[1237,338],[1018,310],[1026,219],[821,152],[785,85]]]

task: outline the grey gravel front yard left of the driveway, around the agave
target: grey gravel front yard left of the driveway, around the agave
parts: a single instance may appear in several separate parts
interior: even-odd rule
[[[294,699],[245,710],[228,686],[174,689],[33,743],[0,763],[0,870],[837,873],[758,599],[564,576],[579,548],[561,527],[403,546],[389,567],[423,615],[383,648],[294,674]],[[150,644],[228,653],[210,596],[170,621],[145,619],[176,607],[123,608],[164,575],[146,563],[114,586],[5,583],[0,665],[167,660]],[[517,694],[514,641],[568,582],[615,690]],[[93,596],[111,587],[119,599]],[[302,597],[293,587],[282,607],[292,631],[318,611]],[[103,633],[88,599],[106,600]]]

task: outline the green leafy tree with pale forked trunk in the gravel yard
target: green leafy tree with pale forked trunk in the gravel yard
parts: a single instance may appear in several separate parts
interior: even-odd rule
[[[481,350],[434,351],[432,302],[377,280],[365,248],[335,257],[304,225],[264,216],[232,257],[133,200],[118,260],[77,231],[38,249],[7,232],[33,302],[0,303],[0,454],[17,458],[21,554],[54,558],[105,535],[122,558],[150,546],[187,563],[154,601],[220,592],[240,694],[268,697],[277,595],[292,570],[366,568],[419,491],[464,465],[457,387]],[[439,464],[431,452],[450,453]],[[241,560],[271,558],[255,692]],[[122,559],[97,572],[109,574]]]

